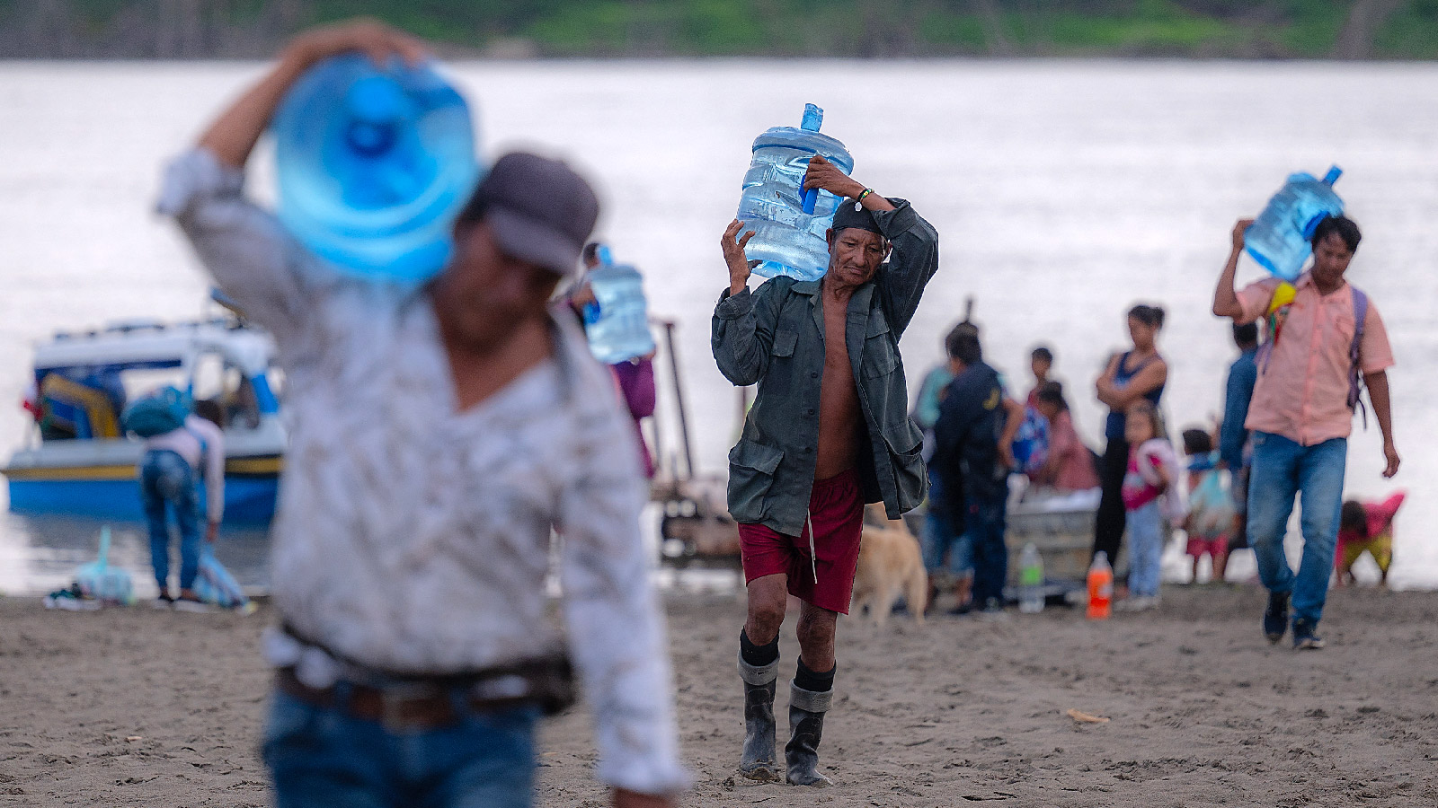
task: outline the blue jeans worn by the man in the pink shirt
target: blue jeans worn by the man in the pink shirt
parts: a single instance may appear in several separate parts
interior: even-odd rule
[[[1258,558],[1258,577],[1271,592],[1293,592],[1294,621],[1317,623],[1329,597],[1333,548],[1339,539],[1347,439],[1299,446],[1278,434],[1254,433],[1252,440],[1248,542]],[[1297,575],[1283,551],[1294,495],[1303,497],[1303,561]]]

